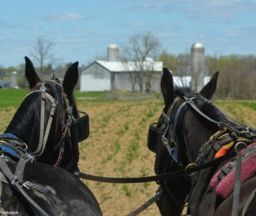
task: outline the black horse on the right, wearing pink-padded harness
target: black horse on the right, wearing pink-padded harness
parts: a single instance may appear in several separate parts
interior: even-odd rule
[[[156,153],[156,174],[209,162],[227,140],[244,140],[245,144],[255,141],[253,129],[236,119],[229,119],[210,101],[217,76],[218,72],[200,93],[194,93],[190,88],[174,87],[172,74],[164,68],[161,88],[165,107],[156,127],[150,125],[148,135],[148,148]],[[229,151],[232,152],[233,148]],[[223,164],[225,162],[213,164],[193,176],[158,182],[162,188],[162,195],[156,201],[160,213],[181,215],[188,201],[188,213],[191,215],[231,215],[233,192],[223,199],[209,188],[213,174],[223,168]],[[255,179],[250,178],[241,185],[238,215],[242,211],[246,215],[255,215],[255,194],[251,193],[255,189]],[[249,203],[247,207],[245,202]]]

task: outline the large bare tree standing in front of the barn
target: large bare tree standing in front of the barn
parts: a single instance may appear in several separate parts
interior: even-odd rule
[[[161,44],[152,32],[134,34],[124,47],[124,62],[134,68],[136,74],[130,74],[130,80],[134,87],[138,81],[140,91],[145,85],[146,91],[151,91],[151,81],[154,74],[154,62],[158,59]]]

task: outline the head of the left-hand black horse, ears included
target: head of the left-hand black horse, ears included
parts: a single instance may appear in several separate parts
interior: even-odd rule
[[[78,81],[78,62],[72,64],[64,80],[41,80],[25,57],[25,75],[31,92],[17,109],[5,134],[27,144],[29,154],[37,162],[61,166],[69,172],[78,171],[78,136],[74,121],[79,114],[73,96]],[[88,118],[87,118],[88,120]],[[88,126],[88,125],[87,125]],[[72,130],[73,129],[73,130]],[[85,129],[84,133],[88,131]]]

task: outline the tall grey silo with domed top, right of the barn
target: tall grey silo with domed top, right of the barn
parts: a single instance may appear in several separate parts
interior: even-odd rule
[[[191,70],[192,89],[199,92],[205,76],[204,47],[199,42],[194,43],[191,48]]]

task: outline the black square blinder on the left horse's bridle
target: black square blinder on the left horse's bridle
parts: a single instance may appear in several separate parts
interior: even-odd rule
[[[84,116],[75,119],[71,124],[71,136],[76,140],[76,142],[81,142],[88,138],[89,134],[89,115],[84,113]]]

